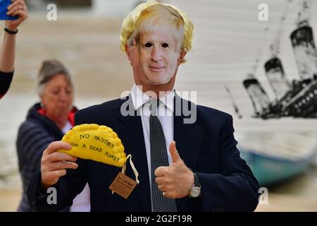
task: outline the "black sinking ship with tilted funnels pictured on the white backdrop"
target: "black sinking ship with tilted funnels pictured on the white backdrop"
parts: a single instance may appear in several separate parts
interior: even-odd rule
[[[288,81],[282,62],[278,57],[273,57],[266,61],[264,67],[275,100],[269,100],[253,75],[249,74],[243,81],[254,107],[254,117],[317,118],[317,51],[313,30],[307,20],[299,23],[299,28],[292,32],[290,39],[299,71],[298,80]]]

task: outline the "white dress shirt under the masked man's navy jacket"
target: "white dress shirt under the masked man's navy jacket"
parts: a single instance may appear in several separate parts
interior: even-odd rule
[[[151,145],[150,145],[150,133],[149,133],[149,100],[151,97],[147,93],[143,93],[137,86],[133,85],[131,90],[132,102],[135,110],[139,109],[142,120],[142,129],[144,135],[145,149],[147,151],[147,166],[149,169],[149,182],[151,186]],[[163,133],[166,141],[166,150],[168,153],[168,162],[171,164],[172,158],[170,157],[170,142],[173,141],[174,134],[174,91],[169,92],[167,95],[161,97],[160,105],[157,108],[157,117],[159,118]],[[136,166],[137,167],[137,166]]]

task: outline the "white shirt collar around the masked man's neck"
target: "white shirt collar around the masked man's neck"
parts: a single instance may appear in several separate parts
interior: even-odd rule
[[[160,98],[161,102],[170,109],[171,112],[174,112],[174,97],[175,97],[175,90],[169,92],[167,95],[164,95]],[[147,93],[143,93],[142,89],[139,85],[133,85],[131,89],[131,96],[132,96],[132,102],[133,106],[135,107],[135,110],[139,109],[139,107],[142,107],[146,102],[151,100],[151,97],[147,95]]]

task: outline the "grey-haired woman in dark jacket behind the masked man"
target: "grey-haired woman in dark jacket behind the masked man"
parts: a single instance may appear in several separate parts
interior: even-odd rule
[[[42,63],[38,74],[37,92],[41,102],[31,107],[26,120],[18,130],[16,147],[19,170],[23,181],[23,195],[18,211],[32,211],[27,201],[27,186],[39,172],[42,152],[53,141],[60,141],[74,126],[73,82],[61,62]],[[32,147],[32,148],[31,148]],[[90,210],[89,187],[78,195],[70,211]]]

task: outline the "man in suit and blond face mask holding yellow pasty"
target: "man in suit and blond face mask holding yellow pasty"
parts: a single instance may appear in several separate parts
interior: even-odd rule
[[[135,85],[127,97],[77,112],[73,132],[46,148],[41,172],[29,186],[33,208],[70,206],[87,182],[92,211],[256,208],[259,184],[236,148],[230,114],[194,105],[175,93],[178,67],[192,48],[192,32],[186,14],[168,4],[148,1],[128,14],[121,49]],[[194,121],[186,123],[184,106],[194,112]],[[80,143],[84,140],[90,143]],[[91,155],[82,152],[87,145],[94,147]],[[131,167],[125,167],[129,157]],[[51,187],[57,191],[54,205],[46,201]]]

